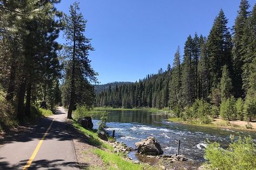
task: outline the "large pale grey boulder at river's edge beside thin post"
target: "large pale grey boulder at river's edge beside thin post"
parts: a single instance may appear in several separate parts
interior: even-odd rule
[[[160,143],[154,137],[148,137],[142,141],[135,143],[135,146],[140,154],[159,155],[163,154]]]

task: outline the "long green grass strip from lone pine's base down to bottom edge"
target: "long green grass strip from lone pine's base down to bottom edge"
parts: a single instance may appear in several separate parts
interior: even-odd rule
[[[147,164],[135,164],[131,160],[126,159],[126,155],[124,154],[114,153],[113,147],[101,140],[95,130],[84,129],[75,121],[73,121],[73,126],[89,138],[90,145],[98,147],[88,152],[97,154],[104,161],[106,169],[154,169]]]

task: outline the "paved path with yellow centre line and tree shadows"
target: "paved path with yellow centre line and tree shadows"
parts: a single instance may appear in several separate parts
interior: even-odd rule
[[[7,137],[0,147],[0,169],[23,169],[41,142],[28,169],[79,169],[72,128],[65,118],[65,110],[58,108],[56,115],[43,118],[37,126]],[[41,140],[50,125],[49,133]]]

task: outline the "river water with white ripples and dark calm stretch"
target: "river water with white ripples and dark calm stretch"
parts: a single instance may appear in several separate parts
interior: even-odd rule
[[[116,131],[116,139],[127,146],[135,147],[134,143],[149,136],[156,137],[164,154],[177,153],[178,140],[181,140],[180,154],[195,161],[204,161],[204,148],[207,140],[217,141],[225,147],[230,143],[230,134],[235,137],[251,135],[256,141],[255,132],[235,131],[229,129],[208,128],[203,126],[185,125],[168,122],[169,115],[154,114],[147,111],[107,111],[107,132]],[[94,128],[102,115],[93,116]],[[133,159],[136,154],[130,153]]]

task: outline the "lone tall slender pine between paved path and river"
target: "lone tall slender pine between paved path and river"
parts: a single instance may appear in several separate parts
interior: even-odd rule
[[[79,12],[77,2],[70,5],[70,15],[65,15],[65,22],[64,34],[67,41],[65,52],[71,67],[68,118],[72,118],[72,110],[79,102],[76,100],[76,95],[81,93],[80,89],[76,88],[76,84],[80,83],[77,80],[83,80],[87,84],[89,83],[87,79],[97,82],[97,73],[91,68],[91,61],[88,59],[89,51],[93,51],[93,47],[90,44],[90,39],[84,36],[87,20]],[[91,91],[88,92],[91,93]]]

